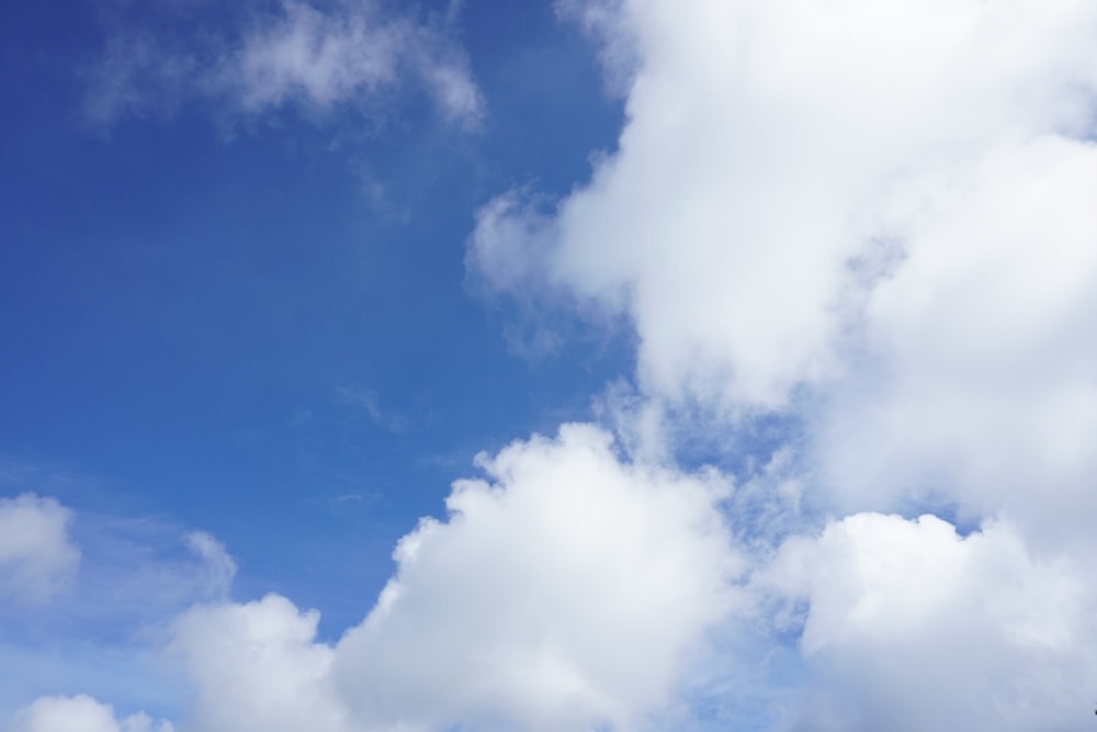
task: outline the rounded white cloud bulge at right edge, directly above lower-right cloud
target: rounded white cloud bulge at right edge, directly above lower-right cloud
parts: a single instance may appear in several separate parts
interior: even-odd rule
[[[1097,148],[1008,146],[912,182],[915,241],[871,293],[874,362],[818,418],[850,502],[940,494],[1040,534],[1097,516]]]

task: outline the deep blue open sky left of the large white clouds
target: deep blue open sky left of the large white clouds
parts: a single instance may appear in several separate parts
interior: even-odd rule
[[[4,12],[0,440],[16,464],[102,485],[58,491],[67,502],[207,528],[239,544],[257,592],[327,607],[365,573],[349,616],[327,610],[346,623],[476,452],[586,416],[622,363],[600,334],[514,358],[509,315],[464,273],[493,192],[566,191],[613,142],[620,103],[550,8],[463,14],[494,100],[479,128],[449,128],[409,92],[381,123],[291,106],[233,139],[185,106],[82,120],[102,11],[75,4],[70,27],[35,5]],[[326,566],[335,548],[369,559]]]

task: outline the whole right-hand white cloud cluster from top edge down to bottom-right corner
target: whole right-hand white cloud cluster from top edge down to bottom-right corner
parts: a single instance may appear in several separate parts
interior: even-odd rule
[[[796,500],[759,515],[795,531],[767,511],[806,495],[838,518],[753,585],[804,604],[782,621],[813,671],[796,729],[1077,729],[1097,684],[1097,5],[566,10],[631,74],[619,148],[555,210],[488,203],[468,264],[626,316],[655,414],[806,426]],[[858,513],[919,505],[983,528]]]

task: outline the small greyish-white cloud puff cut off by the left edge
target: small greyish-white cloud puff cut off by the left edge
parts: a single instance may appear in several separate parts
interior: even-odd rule
[[[0,498],[0,598],[43,603],[69,585],[80,564],[71,521],[53,498]]]

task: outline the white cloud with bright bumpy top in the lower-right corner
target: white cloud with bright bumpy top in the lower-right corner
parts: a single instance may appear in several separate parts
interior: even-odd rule
[[[1090,574],[1004,523],[961,538],[932,516],[858,514],[790,540],[766,582],[810,603],[817,676],[795,729],[1081,729],[1097,686]]]

